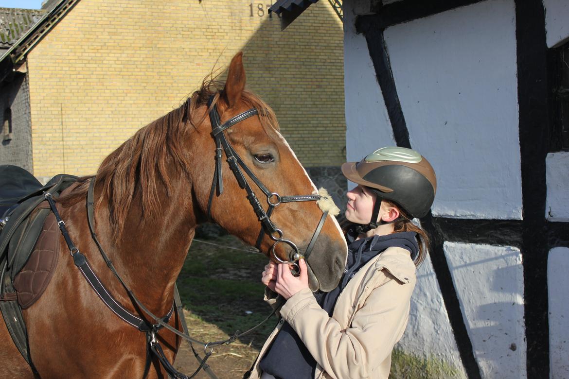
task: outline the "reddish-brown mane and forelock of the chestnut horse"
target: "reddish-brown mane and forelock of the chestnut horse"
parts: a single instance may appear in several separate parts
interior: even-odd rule
[[[104,195],[97,199],[96,207],[101,206],[106,195],[115,241],[121,238],[127,215],[137,196],[141,199],[142,217],[155,216],[160,210],[159,185],[163,185],[169,196],[171,174],[188,173],[192,165],[182,144],[184,134],[189,132],[188,124],[197,128],[208,113],[197,117],[196,110],[207,104],[212,95],[212,106],[215,105],[221,94],[222,83],[209,74],[201,88],[192,93],[178,109],[139,129],[102,161],[96,181],[102,185]],[[243,91],[241,99],[259,111],[263,129],[279,130],[274,111],[262,99],[247,90]],[[84,201],[91,178],[93,176],[81,177],[77,187],[59,198],[58,202],[70,206]]]

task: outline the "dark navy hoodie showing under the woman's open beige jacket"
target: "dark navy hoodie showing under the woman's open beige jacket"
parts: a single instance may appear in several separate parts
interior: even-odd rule
[[[415,232],[401,232],[355,240],[356,236],[348,231],[348,261],[344,276],[332,291],[314,293],[318,304],[328,312],[328,316],[332,316],[336,300],[348,281],[362,266],[389,247],[407,249],[414,260],[419,252],[416,235]],[[314,377],[316,361],[298,334],[285,322],[261,359],[259,367],[277,379],[303,379]]]

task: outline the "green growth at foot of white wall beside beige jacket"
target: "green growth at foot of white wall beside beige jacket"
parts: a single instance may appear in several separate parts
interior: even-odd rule
[[[390,379],[461,378],[460,371],[435,357],[422,358],[394,349],[391,355]]]

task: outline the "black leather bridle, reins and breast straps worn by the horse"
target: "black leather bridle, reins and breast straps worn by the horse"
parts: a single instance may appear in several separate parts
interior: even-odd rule
[[[324,222],[326,216],[328,215],[328,211],[323,212],[318,227],[316,227],[316,230],[314,232],[314,235],[312,235],[312,239],[308,244],[306,252],[304,252],[304,256],[300,255],[298,247],[296,247],[296,245],[292,241],[283,238],[283,232],[275,226],[275,224],[271,221],[270,216],[273,213],[274,208],[281,203],[296,202],[296,201],[319,201],[322,197],[320,195],[281,196],[278,193],[270,192],[266,188],[266,186],[263,185],[262,182],[257,178],[257,176],[255,176],[255,174],[251,172],[251,170],[244,163],[244,161],[241,160],[241,157],[237,154],[236,151],[234,151],[232,146],[229,144],[228,140],[226,140],[225,135],[223,133],[224,130],[232,127],[234,124],[242,120],[245,120],[253,115],[258,115],[258,110],[254,108],[249,109],[248,111],[245,111],[244,113],[241,113],[240,115],[237,115],[232,119],[226,121],[225,123],[221,124],[220,116],[217,113],[217,107],[215,105],[212,106],[212,102],[213,102],[213,96],[209,99],[208,107],[211,107],[211,110],[209,111],[209,118],[212,124],[211,134],[213,136],[213,139],[215,139],[216,141],[216,156],[215,156],[216,167],[215,167],[215,173],[213,175],[213,184],[208,200],[208,207],[207,207],[208,217],[211,219],[211,205],[213,201],[213,194],[215,193],[216,189],[218,196],[223,193],[221,157],[222,157],[222,151],[225,151],[225,156],[227,157],[230,169],[232,170],[234,176],[236,177],[239,186],[242,189],[245,189],[245,191],[247,192],[247,198],[249,199],[249,203],[253,207],[253,210],[255,211],[255,214],[257,215],[259,222],[261,222],[262,227],[261,227],[261,232],[259,232],[259,236],[257,239],[257,247],[258,248],[260,247],[263,236],[265,235],[265,233],[267,233],[270,236],[270,238],[273,241],[275,241],[270,249],[271,255],[273,255],[274,259],[279,261],[280,263],[296,265],[296,268],[298,269],[298,264],[296,264],[296,261],[298,261],[302,257],[306,259],[308,255],[310,255],[310,252],[312,251],[312,248],[316,243],[316,239],[318,238],[318,235],[320,234],[320,231],[324,226]],[[259,203],[257,197],[253,192],[253,189],[251,189],[251,186],[249,185],[249,182],[246,180],[244,174],[241,172],[240,166],[245,171],[245,173],[248,174],[251,180],[253,180],[253,182],[259,187],[259,189],[261,189],[261,191],[263,191],[263,193],[266,195],[267,203],[269,203],[267,211],[265,211],[261,206],[261,204]],[[63,219],[61,219],[59,211],[57,211],[55,201],[53,201],[51,197],[51,193],[49,191],[46,192],[44,194],[44,197],[48,201],[50,208],[53,214],[55,215],[57,225],[59,226],[61,234],[65,239],[65,243],[69,248],[69,253],[73,258],[73,263],[75,263],[77,268],[81,271],[85,279],[89,282],[89,285],[97,293],[98,297],[101,298],[101,300],[105,303],[105,305],[108,306],[109,309],[112,310],[119,318],[129,323],[132,327],[138,329],[139,331],[145,332],[146,341],[147,341],[147,357],[146,357],[145,372],[143,374],[143,377],[146,377],[146,374],[149,372],[150,355],[153,354],[159,360],[160,364],[162,364],[166,372],[174,378],[180,378],[180,379],[193,378],[201,369],[205,370],[205,372],[207,372],[209,376],[211,376],[212,378],[217,378],[215,374],[211,372],[209,366],[205,363],[208,357],[212,355],[213,347],[221,344],[232,343],[241,336],[249,334],[251,331],[261,326],[261,324],[269,320],[269,318],[275,313],[276,310],[273,310],[271,314],[269,314],[269,316],[267,316],[267,318],[264,319],[261,323],[257,324],[257,326],[254,326],[245,332],[240,333],[239,331],[236,331],[235,334],[233,334],[226,340],[212,341],[208,343],[204,343],[202,341],[193,339],[191,338],[191,336],[189,336],[188,328],[185,323],[185,317],[183,314],[182,302],[180,301],[178,289],[176,288],[176,286],[174,287],[174,305],[172,305],[170,312],[166,316],[162,317],[154,315],[149,309],[147,309],[145,305],[142,304],[141,301],[139,301],[139,299],[134,295],[133,291],[130,290],[129,286],[127,286],[123,278],[119,275],[119,273],[115,269],[112,261],[109,259],[108,255],[102,248],[100,241],[98,240],[98,236],[94,229],[94,185],[95,185],[95,177],[92,177],[89,183],[89,189],[87,191],[87,222],[89,225],[89,230],[91,232],[93,241],[97,245],[97,248],[100,251],[101,256],[104,259],[106,265],[109,267],[114,276],[121,283],[123,288],[127,291],[129,298],[133,301],[133,303],[135,303],[135,305],[137,305],[137,307],[139,308],[140,311],[142,311],[142,313],[145,313],[152,320],[142,319],[136,314],[131,313],[131,311],[127,310],[118,301],[116,301],[116,299],[114,299],[114,297],[105,288],[105,286],[99,280],[97,274],[93,271],[93,269],[89,265],[87,257],[80,252],[79,248],[77,248],[76,245],[71,240],[71,237],[69,236],[69,233],[67,231],[67,227],[65,226],[65,222]],[[276,255],[275,247],[279,243],[287,244],[290,247],[292,247],[292,249],[294,249],[294,255],[292,255],[290,261],[282,260]],[[172,314],[174,314],[174,310],[178,312],[178,318],[181,320],[184,332],[180,332],[176,328],[173,328],[168,324],[168,320],[170,320]],[[164,354],[164,351],[160,346],[158,339],[156,338],[156,336],[158,335],[158,331],[161,330],[162,328],[165,328],[171,331],[172,333],[178,335],[179,337],[183,338],[184,340],[188,341],[189,346],[191,347],[196,359],[200,363],[199,367],[191,376],[188,377],[178,372],[178,370],[176,370],[174,366],[172,366],[170,362],[168,362],[167,357]],[[195,351],[192,343],[203,345],[204,354],[205,354],[203,359]]]

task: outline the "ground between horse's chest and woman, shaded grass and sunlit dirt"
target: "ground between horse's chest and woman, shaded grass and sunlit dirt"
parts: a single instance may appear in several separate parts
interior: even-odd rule
[[[216,247],[211,243],[248,249],[232,236],[194,241],[178,279],[189,334],[200,341],[229,338],[236,330],[255,326],[270,314],[263,301],[261,272],[268,259],[259,254]],[[257,357],[277,319],[273,316],[258,331],[214,349],[207,363],[220,379],[241,378]],[[194,345],[201,357],[203,347]],[[191,376],[199,366],[183,341],[174,366]],[[203,370],[196,378],[208,379]]]

